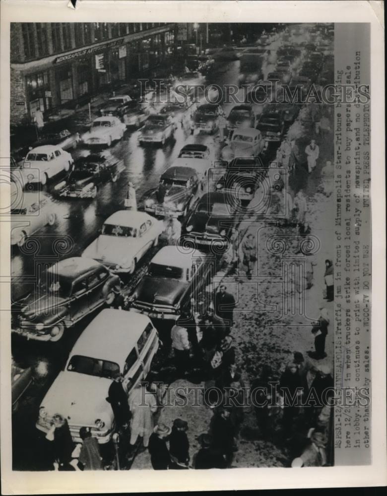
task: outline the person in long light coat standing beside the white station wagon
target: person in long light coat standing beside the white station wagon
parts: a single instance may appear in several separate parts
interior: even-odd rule
[[[133,448],[138,436],[142,437],[144,447],[148,447],[153,432],[153,414],[157,412],[155,396],[144,385],[137,384],[129,394],[130,447]]]

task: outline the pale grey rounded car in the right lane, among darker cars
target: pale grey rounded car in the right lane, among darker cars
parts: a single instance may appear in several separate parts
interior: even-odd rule
[[[261,132],[253,127],[234,131],[230,144],[222,148],[221,158],[229,162],[235,157],[257,157],[264,148]]]

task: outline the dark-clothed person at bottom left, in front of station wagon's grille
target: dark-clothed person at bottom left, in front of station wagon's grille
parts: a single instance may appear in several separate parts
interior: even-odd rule
[[[61,414],[57,413],[53,416],[46,439],[53,443],[55,470],[73,470],[74,467],[71,467],[70,463],[74,445],[67,420]]]

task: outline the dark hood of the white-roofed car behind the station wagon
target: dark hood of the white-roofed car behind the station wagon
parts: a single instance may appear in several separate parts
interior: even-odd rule
[[[150,305],[175,305],[189,283],[167,277],[144,276],[136,289],[136,300]]]

